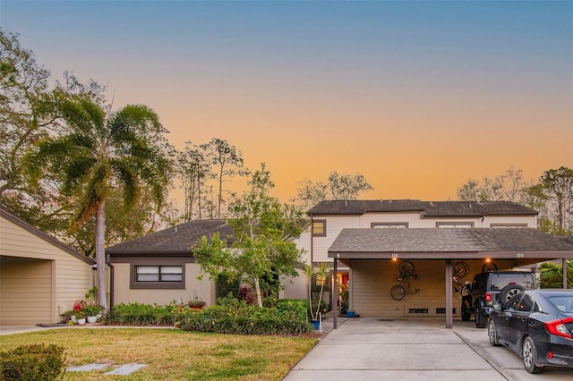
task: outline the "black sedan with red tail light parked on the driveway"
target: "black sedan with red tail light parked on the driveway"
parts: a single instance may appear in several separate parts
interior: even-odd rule
[[[573,367],[573,290],[526,290],[494,305],[488,336],[521,356],[529,373]]]

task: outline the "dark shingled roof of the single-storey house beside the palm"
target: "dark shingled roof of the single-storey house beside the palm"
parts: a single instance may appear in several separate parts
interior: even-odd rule
[[[119,243],[107,248],[106,252],[111,255],[130,253],[191,254],[192,244],[200,241],[203,236],[210,239],[216,232],[219,232],[220,238],[224,240],[232,233],[232,229],[224,220],[189,221],[131,241]]]

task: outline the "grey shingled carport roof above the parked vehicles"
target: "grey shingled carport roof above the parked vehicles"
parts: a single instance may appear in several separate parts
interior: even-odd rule
[[[343,229],[329,248],[329,258],[392,258],[397,253],[409,258],[457,258],[463,253],[573,258],[573,244],[532,228]]]

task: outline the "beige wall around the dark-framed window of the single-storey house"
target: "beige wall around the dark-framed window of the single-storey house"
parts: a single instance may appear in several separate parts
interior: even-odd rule
[[[198,280],[199,265],[188,263],[185,265],[185,288],[184,289],[130,289],[130,264],[114,264],[114,304],[119,303],[158,303],[168,304],[178,301],[180,298],[186,303],[193,297],[193,292],[205,301],[207,305],[215,304],[215,284],[204,276]]]

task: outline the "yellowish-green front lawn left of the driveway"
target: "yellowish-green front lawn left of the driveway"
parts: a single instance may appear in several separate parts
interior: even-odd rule
[[[117,380],[280,380],[318,342],[316,337],[201,334],[159,328],[63,328],[8,334],[0,351],[29,343],[55,343],[68,366],[147,364]],[[110,379],[107,370],[66,372],[64,380]]]

